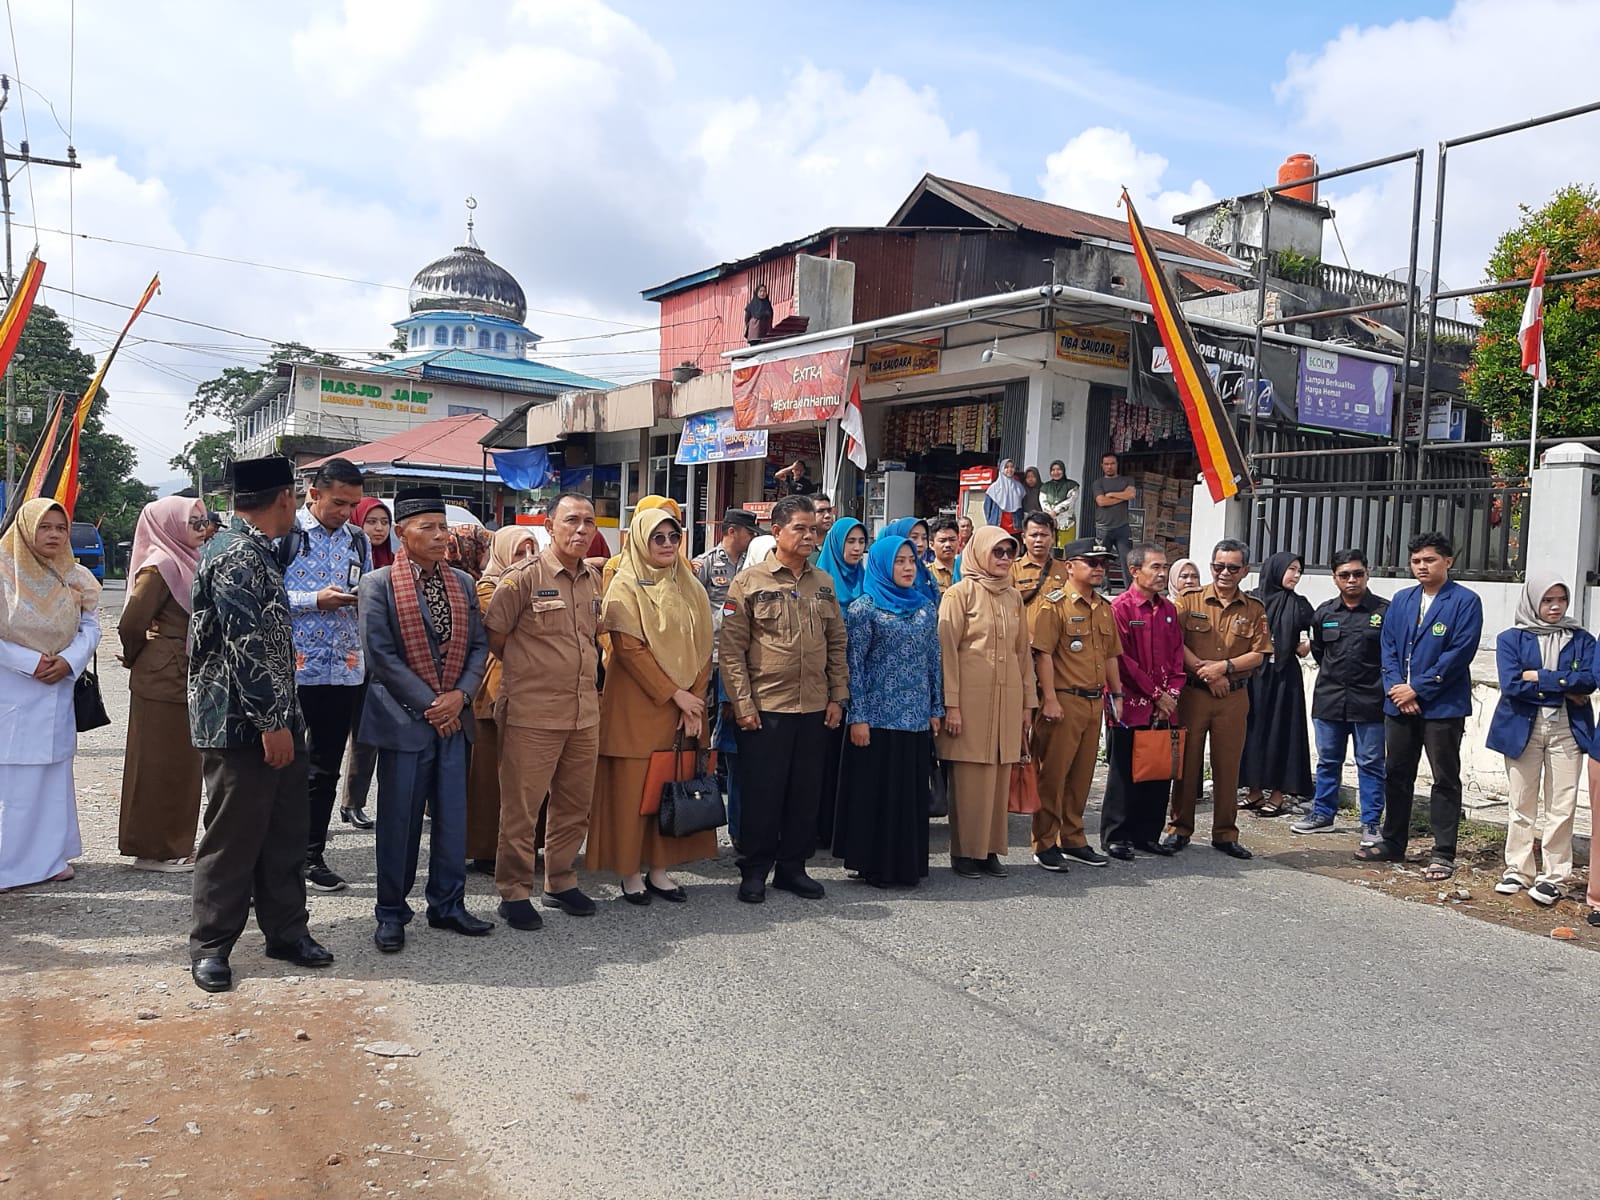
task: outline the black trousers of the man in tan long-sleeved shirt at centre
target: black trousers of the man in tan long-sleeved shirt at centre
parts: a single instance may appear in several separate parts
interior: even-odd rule
[[[821,712],[763,712],[739,730],[739,874],[805,870],[816,853],[816,810],[832,730]]]

